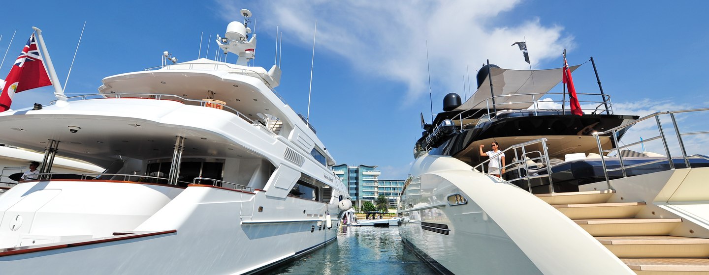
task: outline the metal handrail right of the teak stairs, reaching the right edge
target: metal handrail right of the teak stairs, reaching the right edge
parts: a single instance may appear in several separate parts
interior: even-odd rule
[[[709,111],[709,108],[696,108],[696,109],[655,112],[651,115],[647,115],[645,117],[635,119],[632,122],[627,122],[625,124],[621,124],[620,126],[615,127],[613,129],[608,129],[606,131],[593,133],[596,136],[596,145],[598,146],[598,153],[601,154],[601,165],[603,165],[603,175],[605,176],[605,182],[608,185],[608,189],[612,189],[612,187],[610,186],[610,178],[608,177],[608,172],[621,170],[623,172],[623,177],[627,177],[627,172],[625,171],[626,169],[635,168],[635,167],[639,167],[639,166],[643,166],[643,165],[650,165],[653,163],[661,163],[661,162],[665,162],[665,161],[668,163],[670,170],[674,169],[674,162],[672,161],[672,156],[671,156],[671,153],[669,150],[670,147],[667,142],[666,135],[664,134],[664,130],[662,129],[662,124],[660,122],[661,115],[669,115],[669,117],[671,118],[671,124],[672,124],[672,127],[674,128],[674,132],[677,136],[677,144],[676,145],[679,146],[679,149],[682,154],[682,160],[684,161],[684,165],[686,165],[686,168],[691,168],[691,165],[689,163],[690,158],[709,159],[706,156],[701,156],[701,155],[687,156],[687,151],[684,146],[684,141],[682,139],[683,136],[691,136],[691,135],[697,135],[697,134],[709,134],[709,131],[704,130],[704,131],[681,132],[681,131],[679,131],[679,125],[677,124],[677,119],[675,118],[675,114],[691,113],[691,115],[696,115],[698,112],[703,112],[703,111]],[[632,127],[633,125],[635,125],[637,123],[643,122],[648,119],[653,119],[653,118],[655,119],[655,123],[657,124],[657,131],[659,132],[659,135],[653,136],[649,139],[642,139],[641,141],[637,141],[632,144],[618,146],[618,137],[617,137],[618,131],[625,131],[625,129]],[[616,144],[616,146],[615,146],[615,148],[603,150],[603,148],[601,147],[601,136],[605,136],[607,134],[610,134],[610,136],[613,136],[613,141]],[[623,156],[621,156],[621,154],[620,154],[621,149],[628,148],[630,146],[635,146],[638,144],[643,144],[648,141],[654,141],[657,139],[660,139],[660,141],[662,142],[662,146],[663,146],[664,151],[666,153],[665,158],[660,158],[657,160],[649,160],[649,161],[646,161],[643,163],[636,163],[636,164],[627,165],[627,166],[623,163]],[[672,145],[675,145],[675,144],[672,144]],[[608,156],[606,156],[606,153],[610,153],[613,151],[615,151],[616,155],[618,156],[618,163],[620,164],[620,167],[608,169],[608,167],[605,164],[605,158],[608,158]]]

